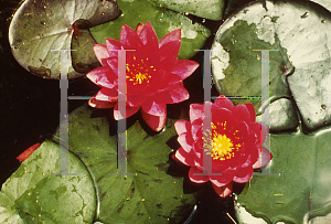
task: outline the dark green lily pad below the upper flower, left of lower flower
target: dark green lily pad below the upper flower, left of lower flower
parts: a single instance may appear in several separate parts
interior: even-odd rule
[[[167,174],[173,151],[167,141],[177,135],[175,120],[168,119],[167,130],[153,137],[138,121],[127,130],[127,172],[134,175],[124,177],[116,175],[117,136],[109,136],[107,119],[92,118],[92,110],[86,105],[70,115],[68,139],[70,150],[86,164],[95,183],[96,221],[178,223],[188,215],[194,194],[183,193],[182,178]]]

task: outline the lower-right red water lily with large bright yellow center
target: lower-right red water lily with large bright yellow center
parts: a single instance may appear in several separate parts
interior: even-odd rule
[[[233,182],[249,181],[253,169],[267,164],[271,154],[261,147],[267,129],[255,122],[252,104],[234,106],[221,96],[212,104],[211,113],[211,131],[203,132],[204,105],[200,104],[191,105],[190,121],[174,124],[181,145],[175,158],[191,167],[191,181],[211,181],[216,193],[224,198],[232,193]],[[203,160],[204,156],[207,160]],[[207,172],[205,161],[212,162]]]

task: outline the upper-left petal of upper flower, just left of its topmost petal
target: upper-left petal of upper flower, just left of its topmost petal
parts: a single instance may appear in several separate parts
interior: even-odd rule
[[[136,31],[126,24],[121,26],[119,41],[125,49],[135,49],[136,51],[143,45]]]

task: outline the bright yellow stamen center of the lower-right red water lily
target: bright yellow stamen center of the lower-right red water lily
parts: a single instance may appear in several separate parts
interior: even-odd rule
[[[211,154],[211,157],[216,160],[226,160],[231,159],[235,156],[236,151],[241,150],[242,145],[235,143],[234,141],[241,139],[239,137],[235,137],[238,130],[226,130],[226,121],[217,122],[217,127],[212,122],[213,134],[209,131],[204,138],[204,142],[209,143],[206,147],[206,153]],[[233,138],[231,138],[231,136]]]

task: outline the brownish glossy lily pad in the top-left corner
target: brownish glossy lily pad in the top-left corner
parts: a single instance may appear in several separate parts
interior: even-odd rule
[[[26,0],[15,12],[9,28],[12,54],[34,75],[60,79],[58,52],[52,50],[71,49],[74,22],[86,20],[94,26],[119,14],[113,1]],[[82,49],[77,51],[85,54]],[[83,75],[74,71],[70,56],[68,78]]]

